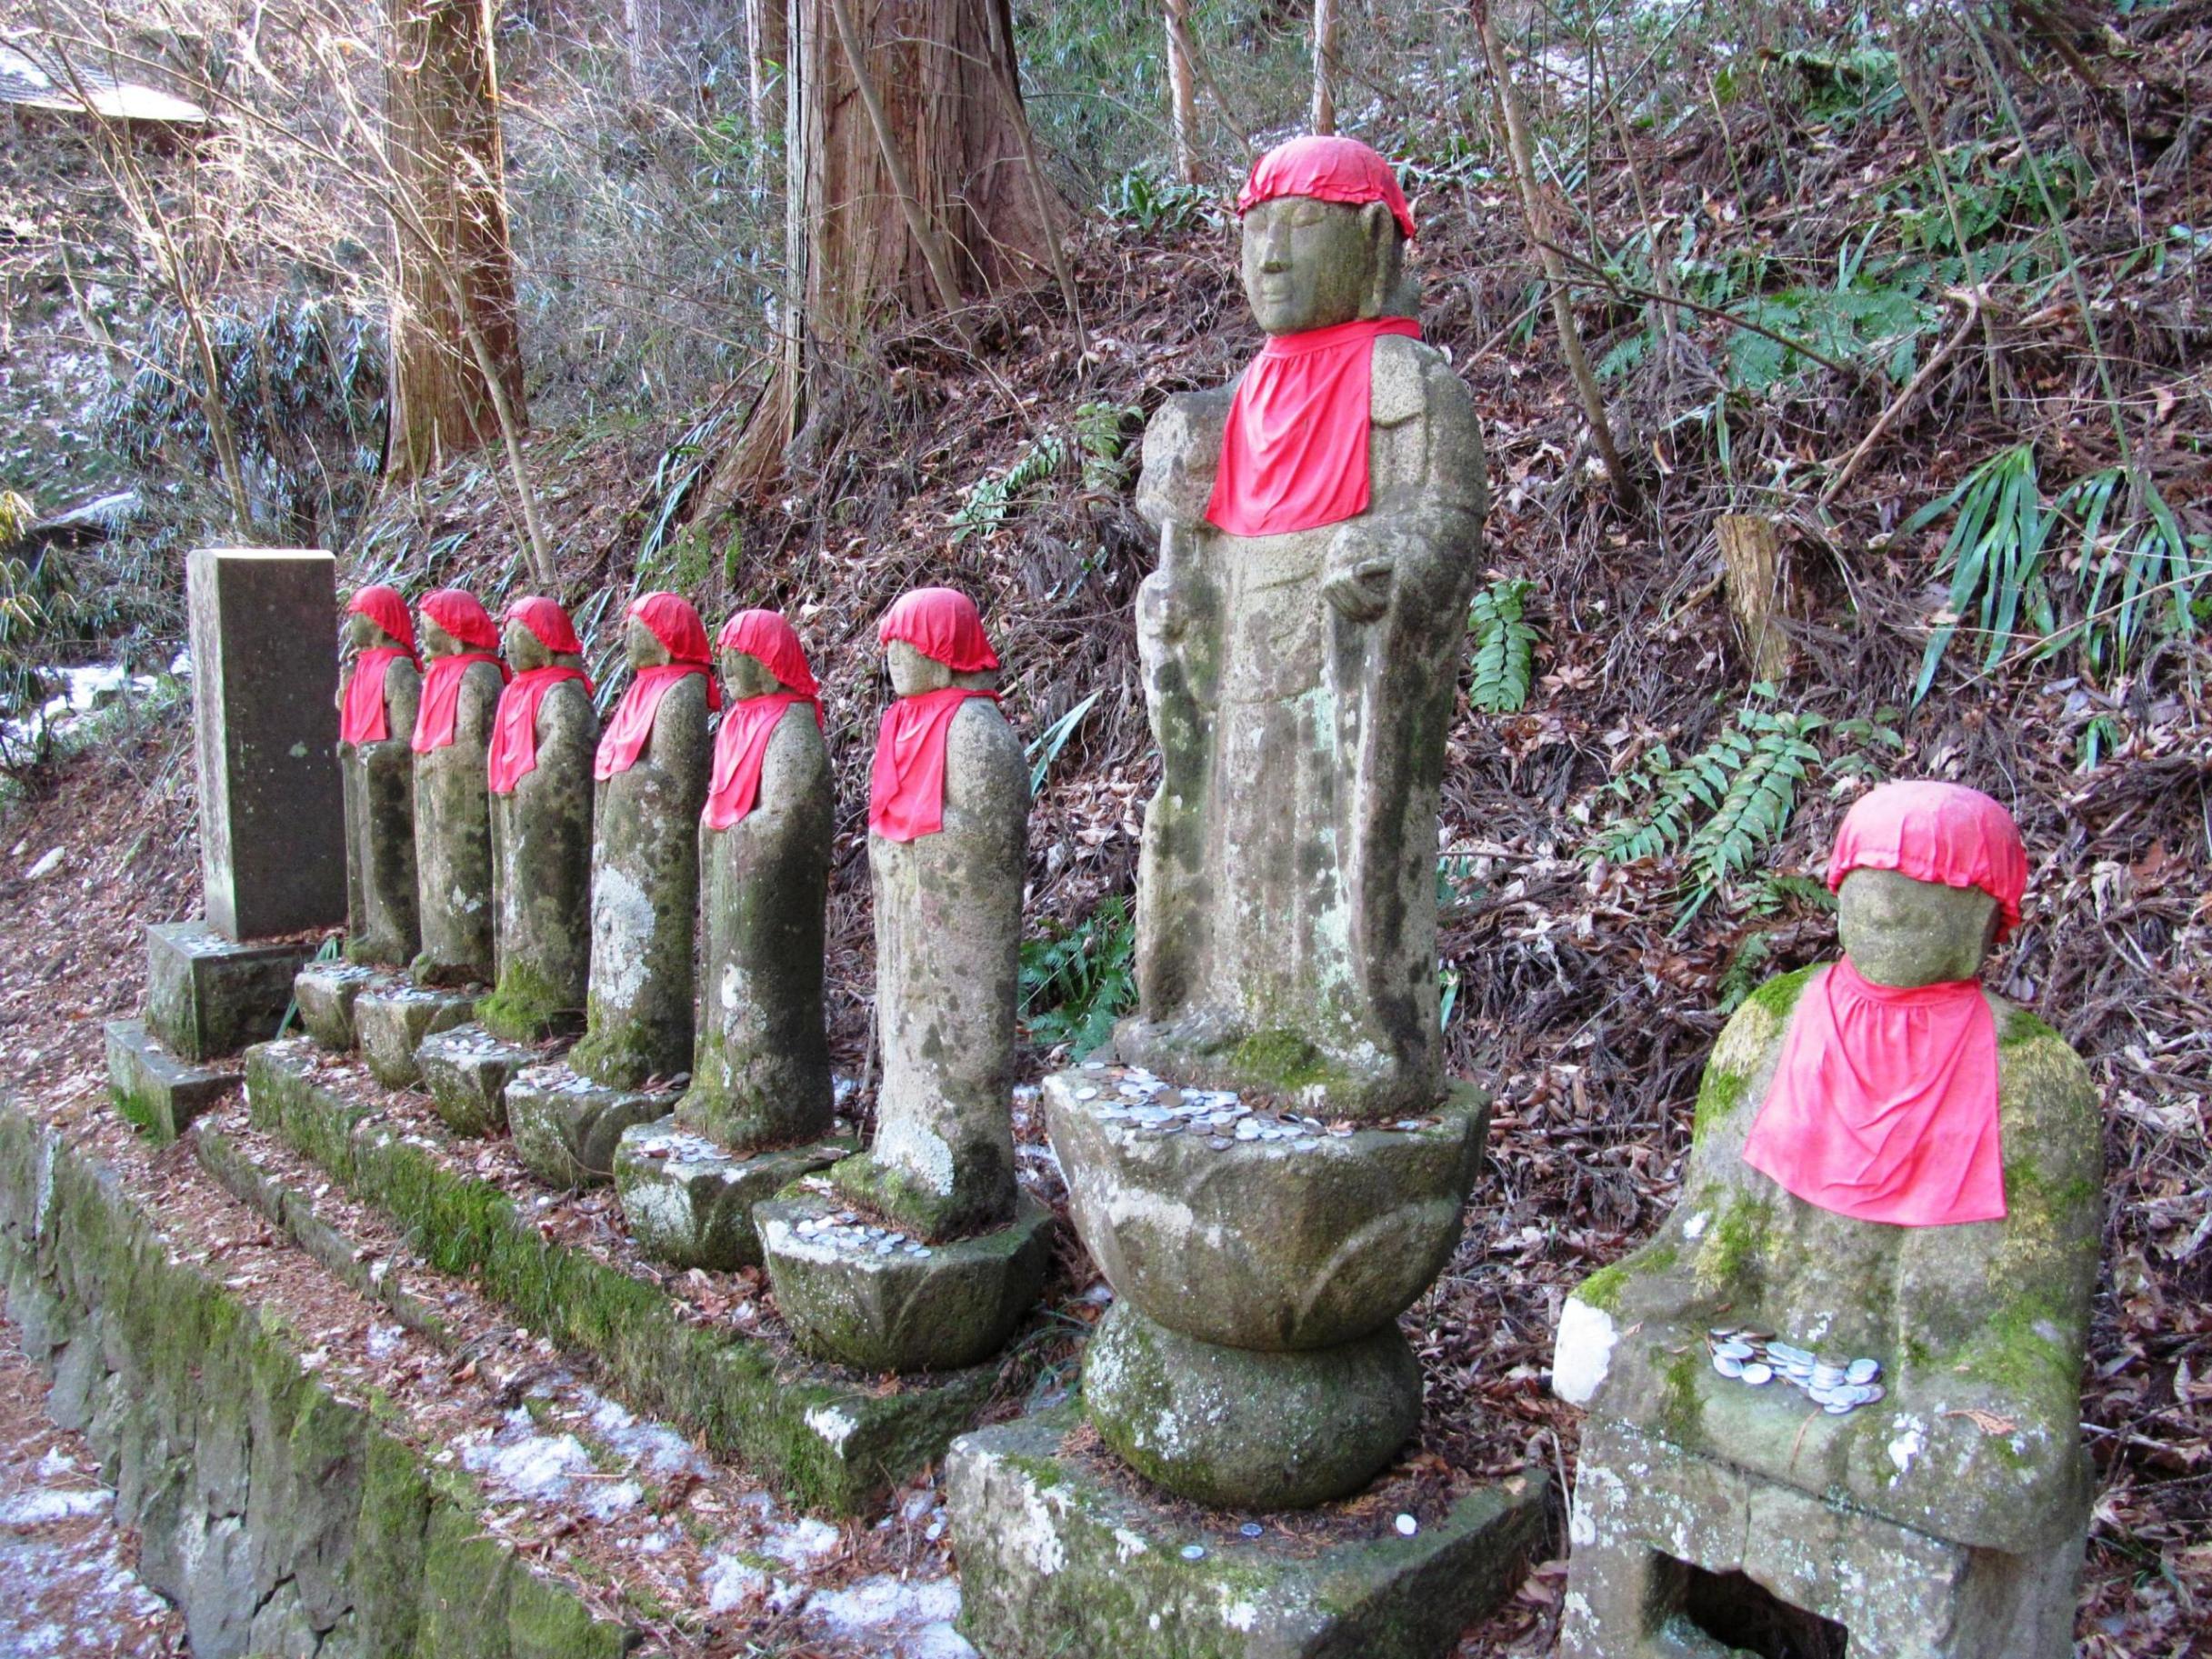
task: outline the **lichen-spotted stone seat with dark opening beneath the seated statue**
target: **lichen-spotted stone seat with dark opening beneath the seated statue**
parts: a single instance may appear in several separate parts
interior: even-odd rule
[[[1854,1655],[2066,1659],[2088,1511],[2070,1520],[2028,1555],[1969,1548],[1597,1420],[1575,1475],[1559,1652],[1736,1652],[1725,1599],[1688,1595],[1694,1566],[1840,1624]]]

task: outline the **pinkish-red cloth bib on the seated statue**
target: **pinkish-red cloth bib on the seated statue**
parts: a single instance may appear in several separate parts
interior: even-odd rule
[[[1978,980],[1896,989],[1845,958],[1798,998],[1743,1161],[1836,1214],[2004,1219],[1997,1022]]]

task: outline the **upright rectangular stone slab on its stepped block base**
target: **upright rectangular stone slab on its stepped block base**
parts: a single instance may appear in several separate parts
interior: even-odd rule
[[[206,918],[146,929],[146,1018],[106,1029],[117,1106],[164,1137],[276,1035],[299,936],[345,920],[330,553],[197,549],[186,608]]]

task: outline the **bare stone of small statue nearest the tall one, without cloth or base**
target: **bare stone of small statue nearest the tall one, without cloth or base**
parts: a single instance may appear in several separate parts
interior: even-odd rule
[[[900,697],[951,681],[894,644]],[[1013,1214],[1013,1042],[1029,860],[1029,768],[998,703],[945,741],[945,830],[869,834],[883,1091],[865,1199],[931,1237]],[[858,1168],[856,1168],[858,1172]]]

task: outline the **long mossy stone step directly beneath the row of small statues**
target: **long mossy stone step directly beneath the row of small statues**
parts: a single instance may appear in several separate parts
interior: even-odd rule
[[[374,1106],[319,1084],[305,1040],[254,1048],[246,1093],[254,1128],[383,1210],[431,1267],[476,1279],[520,1323],[595,1360],[630,1405],[779,1482],[803,1509],[865,1509],[936,1462],[993,1398],[995,1367],[885,1389],[772,1338],[690,1321],[615,1261],[549,1239],[436,1135],[400,1135]]]

